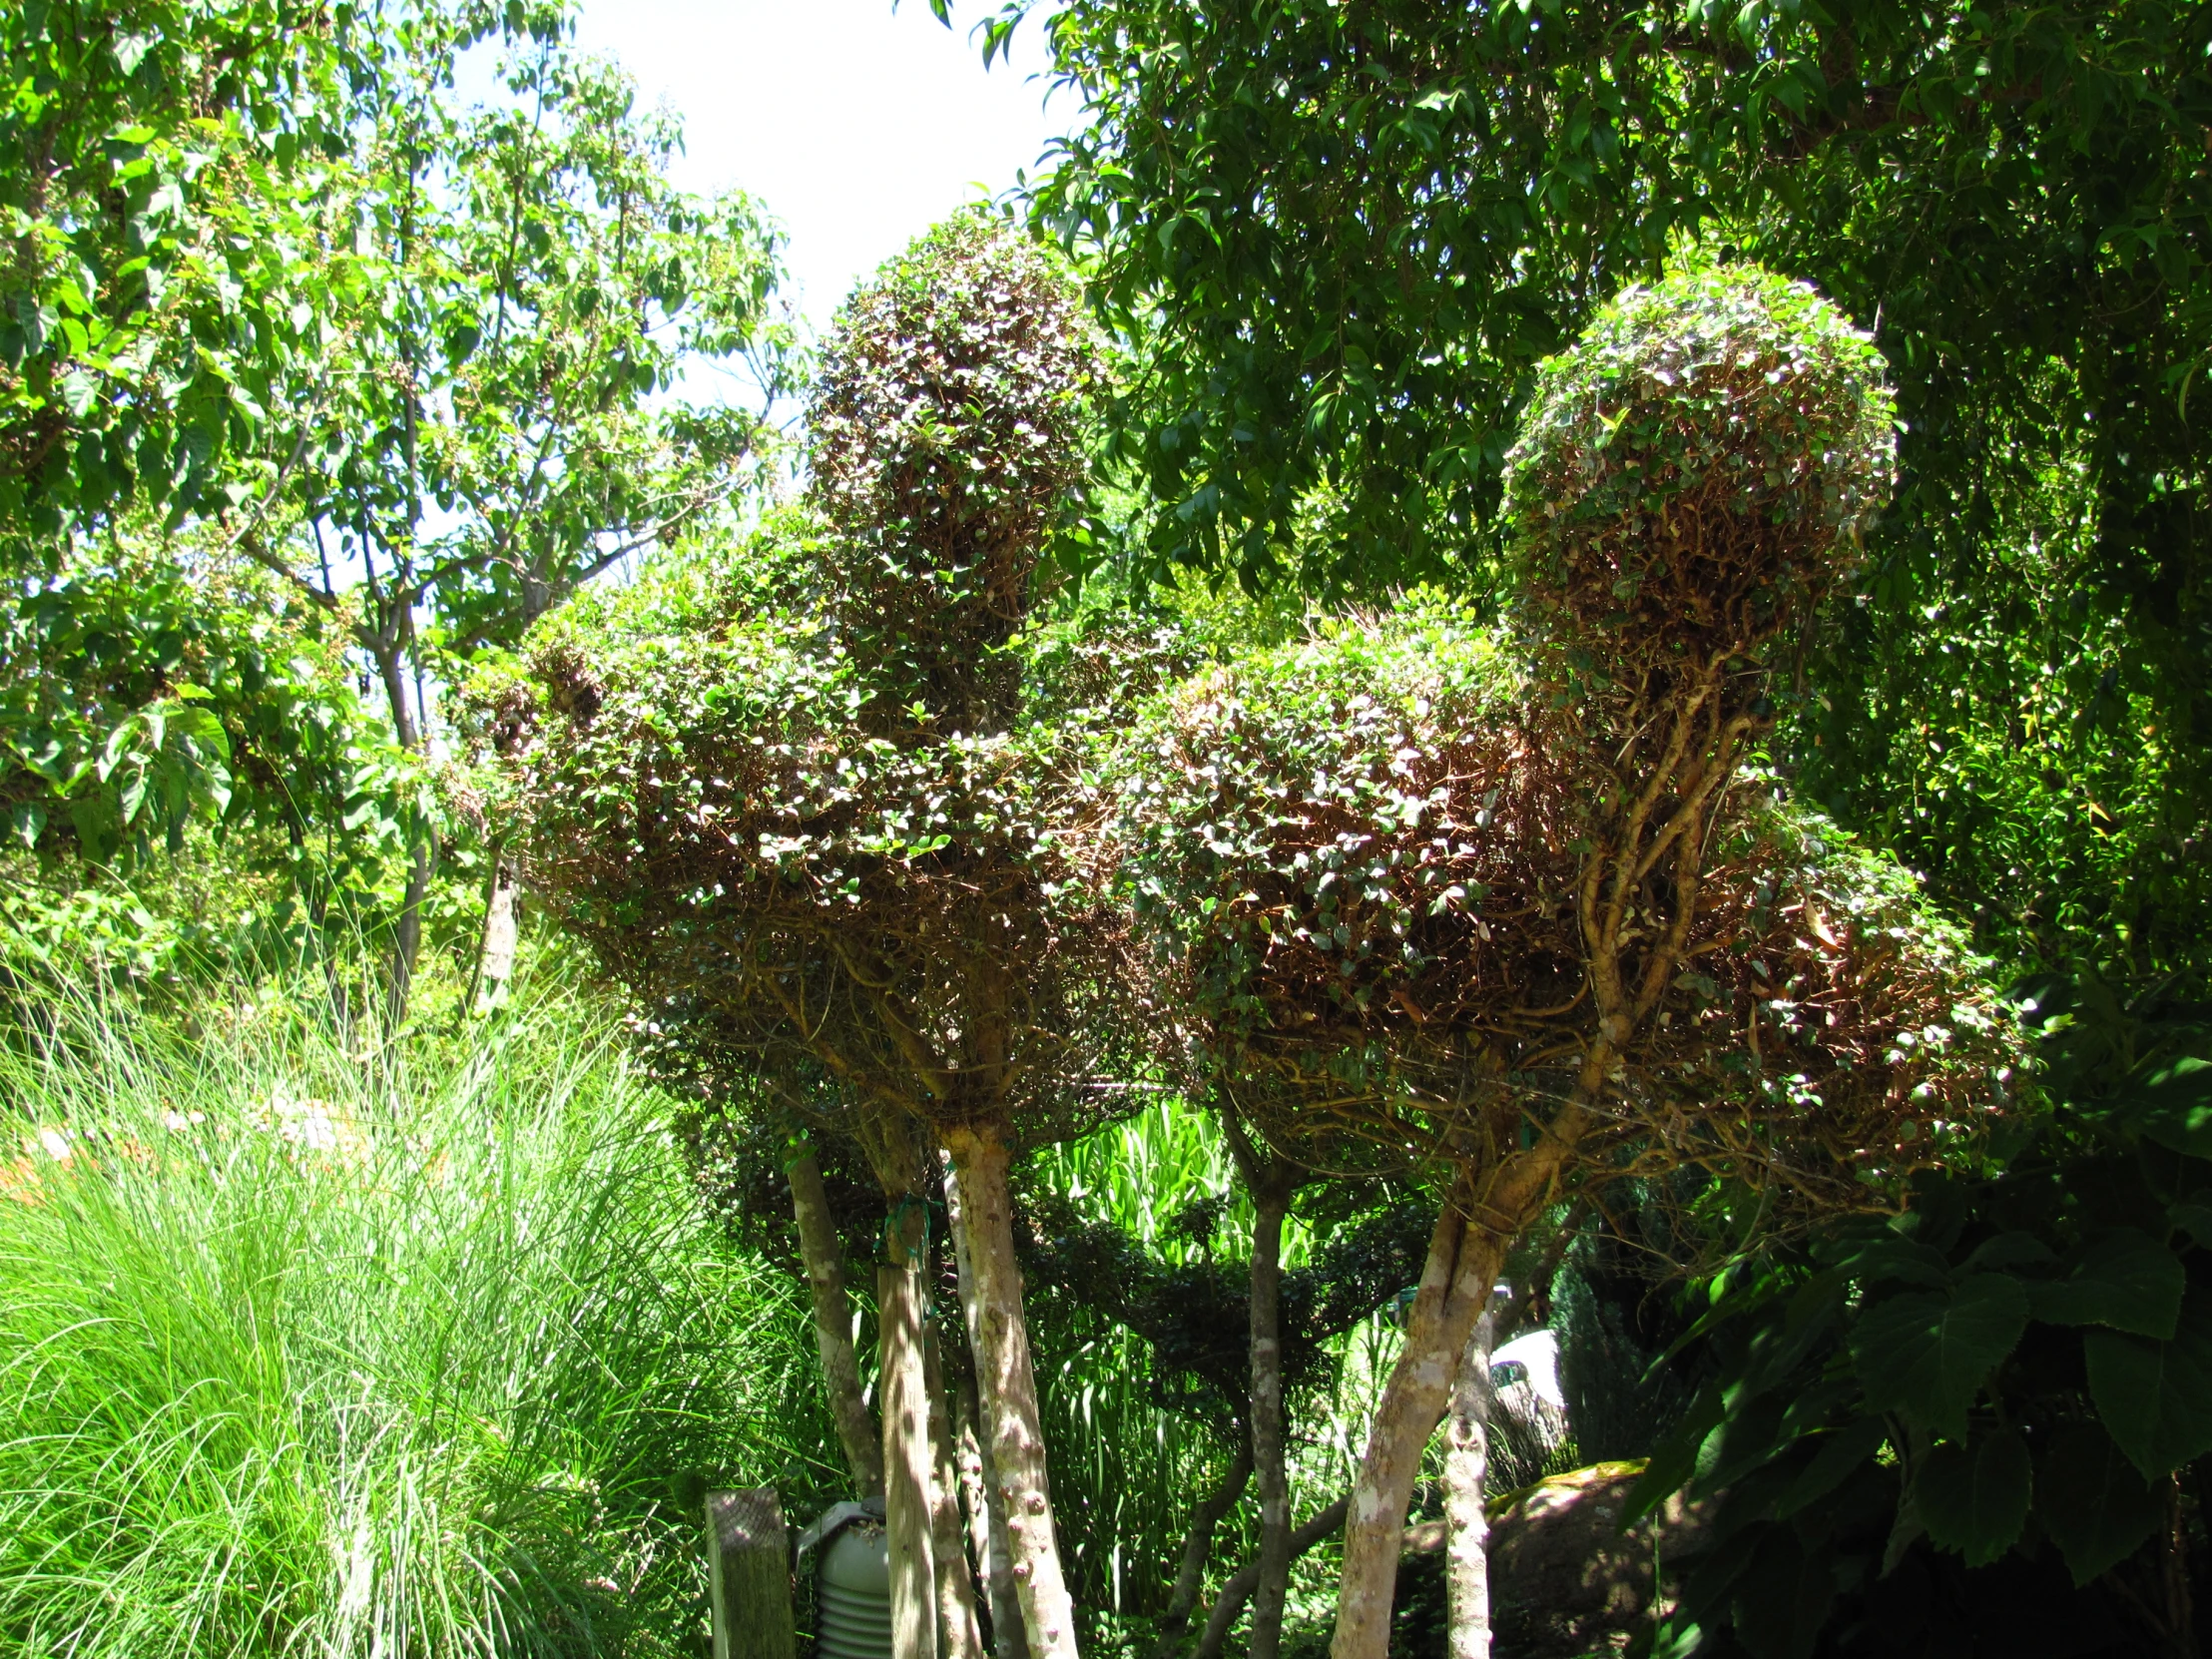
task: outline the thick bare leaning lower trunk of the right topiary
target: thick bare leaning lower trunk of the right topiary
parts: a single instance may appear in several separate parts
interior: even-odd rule
[[[1332,1659],[1385,1659],[1389,1652],[1398,1546],[1420,1453],[1444,1416],[1460,1354],[1489,1307],[1502,1263],[1504,1241],[1486,1228],[1467,1225],[1447,1203],[1420,1270],[1405,1347],[1376,1405],[1367,1455],[1352,1486]]]

